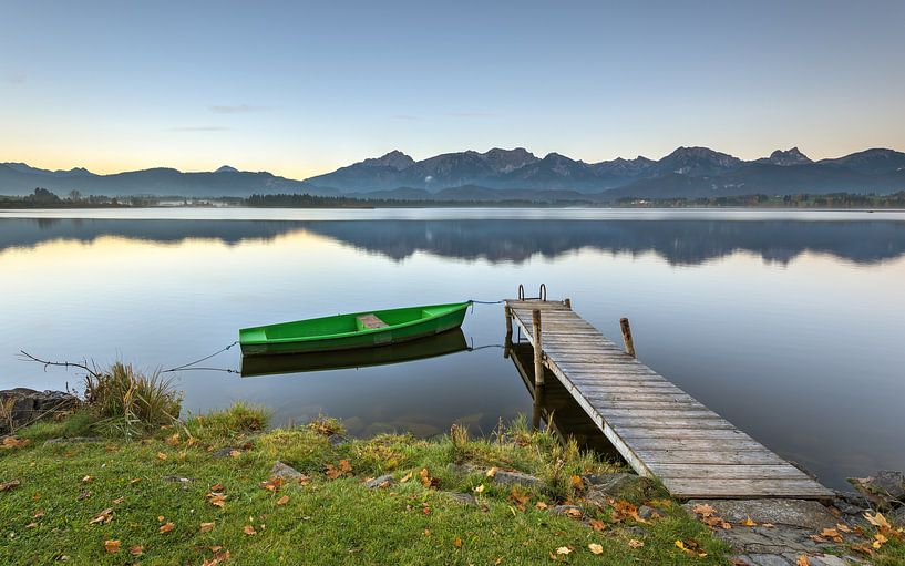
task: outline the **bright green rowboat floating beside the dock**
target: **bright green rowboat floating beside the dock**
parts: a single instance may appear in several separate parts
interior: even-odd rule
[[[462,326],[471,302],[311,318],[239,330],[243,356],[325,352],[388,346]]]

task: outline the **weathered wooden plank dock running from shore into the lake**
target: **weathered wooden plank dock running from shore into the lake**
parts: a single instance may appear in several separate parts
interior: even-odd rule
[[[556,375],[631,467],[658,477],[675,497],[833,497],[627,354],[576,315],[568,299],[507,300],[505,306],[507,337],[515,325],[534,347],[536,387],[543,387],[545,373]]]

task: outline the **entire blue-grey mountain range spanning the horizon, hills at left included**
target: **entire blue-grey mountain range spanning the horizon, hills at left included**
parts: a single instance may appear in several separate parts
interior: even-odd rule
[[[639,156],[585,163],[558,153],[538,157],[522,147],[446,153],[422,161],[392,151],[305,181],[229,166],[209,173],[152,168],[96,175],[81,167],[48,171],[23,163],[0,164],[0,194],[27,194],[38,186],[60,194],[111,196],[309,193],[442,200],[888,194],[905,189],[905,153],[874,148],[815,162],[792,147],[743,161],[708,147],[679,147],[661,159]]]

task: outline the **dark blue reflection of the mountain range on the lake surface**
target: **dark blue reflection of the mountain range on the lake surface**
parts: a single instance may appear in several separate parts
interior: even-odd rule
[[[0,251],[50,240],[104,236],[156,243],[215,239],[228,245],[272,240],[298,231],[402,260],[416,253],[495,263],[555,258],[582,248],[655,253],[672,265],[697,265],[737,251],[788,263],[806,251],[857,264],[905,254],[905,223],[888,220],[115,220],[0,219]]]

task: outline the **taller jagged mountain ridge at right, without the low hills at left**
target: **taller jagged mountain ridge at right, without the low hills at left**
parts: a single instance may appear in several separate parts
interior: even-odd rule
[[[501,161],[506,166],[498,165]],[[436,155],[392,171],[376,169],[364,161],[307,181],[343,193],[377,191],[390,196],[388,192],[405,188],[425,191],[434,198],[454,188],[460,188],[457,194],[474,194],[474,187],[518,189],[525,197],[531,191],[569,191],[603,200],[754,193],[893,193],[905,188],[905,153],[876,148],[814,162],[792,147],[743,161],[708,147],[678,147],[656,161],[638,156],[585,163],[557,153],[537,158],[523,148],[494,148],[483,154],[467,151]],[[572,196],[563,195],[566,199]]]

